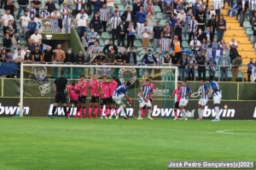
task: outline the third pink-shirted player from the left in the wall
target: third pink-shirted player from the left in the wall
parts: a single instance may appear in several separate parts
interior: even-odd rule
[[[98,116],[98,103],[100,98],[100,82],[97,80],[96,75],[93,75],[89,82],[90,88],[90,107],[89,118],[91,117],[92,109],[94,107],[94,118]]]

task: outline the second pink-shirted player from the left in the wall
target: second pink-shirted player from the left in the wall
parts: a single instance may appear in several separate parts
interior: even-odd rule
[[[85,107],[85,102],[86,102],[86,96],[87,96],[87,82],[84,79],[84,75],[80,76],[80,81],[79,81],[79,88],[80,88],[80,94],[79,94],[79,113],[80,117],[83,115],[85,118],[86,116],[86,107]],[[84,112],[84,114],[82,114]],[[78,114],[79,114],[78,113]],[[77,114],[76,114],[77,117]]]

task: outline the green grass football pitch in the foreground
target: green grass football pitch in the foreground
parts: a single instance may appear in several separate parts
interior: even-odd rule
[[[256,161],[256,122],[0,118],[1,170],[160,170],[167,161]]]

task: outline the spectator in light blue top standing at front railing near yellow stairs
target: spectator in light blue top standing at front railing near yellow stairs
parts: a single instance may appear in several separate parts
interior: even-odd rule
[[[218,66],[220,70],[220,81],[226,82],[228,81],[228,71],[230,67],[230,56],[227,54],[224,49],[222,55],[218,58]]]

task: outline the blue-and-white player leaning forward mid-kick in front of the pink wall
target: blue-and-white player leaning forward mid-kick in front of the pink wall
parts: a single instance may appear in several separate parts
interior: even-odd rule
[[[131,104],[131,97],[129,98],[127,94],[127,88],[131,86],[131,82],[123,82],[122,84],[119,85],[118,88],[116,88],[113,92],[113,101],[119,105],[119,110],[121,113],[123,113],[125,120],[128,120],[129,117],[125,114],[124,110],[124,104],[122,103],[122,99],[126,99],[128,102],[128,105]]]

